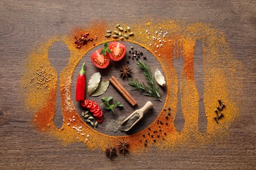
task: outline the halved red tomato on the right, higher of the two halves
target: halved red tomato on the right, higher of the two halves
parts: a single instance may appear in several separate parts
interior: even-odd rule
[[[108,46],[108,49],[110,49],[110,58],[113,59],[114,61],[119,61],[123,59],[123,57],[126,54],[126,46],[125,44],[122,44],[121,42],[111,42],[110,46]]]

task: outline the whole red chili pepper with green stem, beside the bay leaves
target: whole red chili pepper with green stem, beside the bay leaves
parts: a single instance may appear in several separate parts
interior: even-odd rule
[[[83,101],[85,99],[85,63],[79,72],[76,82],[75,101]]]

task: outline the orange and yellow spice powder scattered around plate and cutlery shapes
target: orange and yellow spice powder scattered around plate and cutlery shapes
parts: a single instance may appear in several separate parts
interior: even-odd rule
[[[106,30],[116,24],[93,22],[84,29],[74,29],[70,35],[53,37],[35,48],[24,63],[25,73],[22,77],[22,88],[26,95],[26,109],[33,113],[33,122],[39,131],[51,133],[60,138],[64,144],[83,142],[91,149],[104,150],[114,146],[121,140],[129,142],[129,152],[144,151],[152,144],[159,148],[176,146],[194,146],[219,140],[228,133],[228,127],[238,118],[238,96],[242,93],[242,82],[236,79],[242,67],[230,55],[228,42],[221,31],[211,25],[170,20],[150,20],[130,24],[134,35],[123,41],[133,42],[149,50],[161,63],[167,80],[167,97],[163,110],[158,118],[146,129],[129,136],[109,136],[91,128],[76,112],[71,96],[71,80],[74,69],[95,46],[105,41],[114,41],[113,37],[105,37]],[[126,24],[122,24],[126,25]],[[79,49],[74,44],[74,35],[89,33],[97,37]],[[194,81],[194,47],[198,39],[203,40],[204,90],[203,102],[207,117],[207,130],[200,133],[198,129],[199,95]],[[70,50],[70,61],[60,73],[60,93],[62,97],[63,126],[54,126],[54,110],[57,89],[57,72],[48,59],[48,50],[53,42],[62,41]],[[180,44],[177,45],[177,42]],[[182,50],[179,50],[181,49]],[[184,128],[180,133],[175,129],[177,112],[177,72],[173,67],[173,56],[184,56],[184,69],[181,73],[182,112]],[[219,69],[221,68],[221,69]],[[232,86],[230,86],[232,84]],[[222,99],[226,103],[225,116],[216,124],[216,103]]]

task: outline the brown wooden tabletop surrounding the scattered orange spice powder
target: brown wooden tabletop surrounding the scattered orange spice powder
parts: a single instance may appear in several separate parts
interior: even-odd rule
[[[111,161],[100,150],[91,151],[81,143],[65,146],[33,128],[32,115],[23,110],[20,82],[24,60],[32,48],[93,20],[135,23],[144,16],[209,23],[224,32],[233,58],[243,64],[243,74],[238,78],[244,83],[240,96],[244,102],[238,121],[230,127],[230,135],[219,144],[181,147],[170,152],[152,147],[140,155],[120,155]],[[255,169],[255,30],[255,1],[1,0],[0,169]],[[200,55],[200,50],[196,52]],[[51,55],[60,54],[69,55],[62,44],[51,48]],[[198,73],[202,73],[200,61],[194,61]],[[61,71],[64,65],[65,61],[54,67]],[[202,84],[202,79],[196,80]],[[203,87],[198,85],[198,89]],[[200,116],[201,122],[204,119]],[[182,117],[180,120],[182,126]],[[203,130],[205,124],[200,127]]]

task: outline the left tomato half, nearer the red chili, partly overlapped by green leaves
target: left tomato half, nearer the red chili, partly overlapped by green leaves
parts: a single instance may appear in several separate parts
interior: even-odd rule
[[[110,57],[108,56],[108,53],[106,54],[106,56],[100,54],[101,50],[102,49],[98,49],[96,50],[96,52],[93,52],[93,54],[91,54],[91,61],[93,61],[93,64],[99,69],[105,69],[110,64]]]

